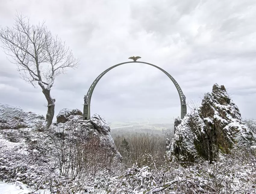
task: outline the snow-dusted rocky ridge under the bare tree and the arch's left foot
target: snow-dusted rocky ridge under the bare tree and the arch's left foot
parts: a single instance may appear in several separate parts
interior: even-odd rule
[[[53,139],[56,141],[60,135],[64,135],[65,141],[76,142],[79,138],[82,144],[91,142],[94,138],[97,141],[93,146],[104,148],[101,150],[105,150],[105,154],[111,154],[109,157],[115,169],[118,169],[122,157],[111,137],[108,122],[102,116],[94,114],[89,123],[80,123],[83,119],[81,115],[82,112],[78,109],[62,109],[57,116],[59,123],[55,121],[49,129],[45,129],[42,125],[45,120],[43,115],[23,111],[20,107],[0,104],[0,139],[3,142],[23,141],[25,147],[30,144],[52,147],[52,144],[56,143],[52,142]]]

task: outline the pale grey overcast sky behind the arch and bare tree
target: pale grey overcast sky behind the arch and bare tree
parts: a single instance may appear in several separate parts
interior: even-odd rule
[[[46,20],[66,41],[80,67],[56,78],[55,116],[61,108],[83,110],[83,97],[105,69],[141,56],[166,70],[187,101],[210,92],[214,83],[233,94],[242,117],[256,118],[255,0],[0,0],[0,24],[15,13]],[[0,51],[0,102],[46,114],[45,97],[19,78]],[[180,116],[180,99],[160,70],[139,63],[112,69],[98,82],[91,112],[106,119]]]

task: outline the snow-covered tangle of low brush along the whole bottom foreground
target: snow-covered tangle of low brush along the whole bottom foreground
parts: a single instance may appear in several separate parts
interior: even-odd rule
[[[7,142],[8,143],[8,142]],[[15,149],[20,150],[21,147]],[[3,148],[4,149],[4,148]],[[53,193],[254,193],[256,192],[256,150],[234,148],[230,154],[220,154],[211,164],[204,159],[195,163],[167,162],[162,168],[148,166],[131,168],[118,173],[98,171],[95,177],[60,176],[54,162],[36,162],[31,154],[1,149],[2,180],[26,183],[33,188],[48,188]],[[36,151],[33,151],[34,153]],[[16,157],[16,158],[15,158]],[[39,158],[43,158],[43,155]],[[15,158],[15,159],[14,159]],[[39,159],[38,158],[38,159]],[[5,164],[5,165],[3,165]],[[182,165],[181,165],[182,164]]]

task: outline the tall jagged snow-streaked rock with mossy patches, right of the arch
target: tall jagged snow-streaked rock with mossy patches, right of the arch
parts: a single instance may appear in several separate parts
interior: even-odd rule
[[[214,84],[201,106],[175,122],[175,134],[167,153],[179,161],[194,162],[203,157],[213,161],[219,152],[255,143],[256,135],[245,125],[238,107],[223,85]],[[168,141],[167,141],[168,143]]]

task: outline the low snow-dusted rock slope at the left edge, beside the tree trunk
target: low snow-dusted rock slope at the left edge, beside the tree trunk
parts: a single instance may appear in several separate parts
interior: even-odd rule
[[[0,129],[33,128],[42,123],[42,114],[23,111],[20,107],[0,103]]]

